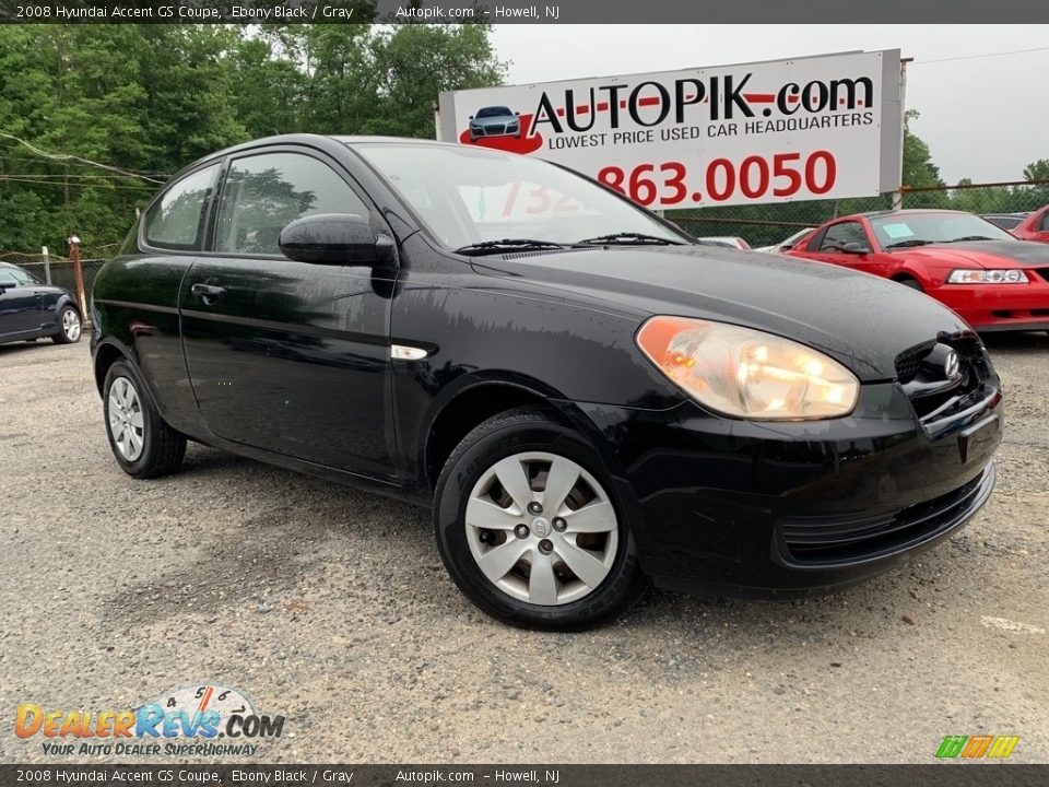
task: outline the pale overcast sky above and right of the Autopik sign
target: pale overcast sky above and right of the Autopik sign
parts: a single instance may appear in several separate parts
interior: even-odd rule
[[[912,130],[943,179],[1019,180],[1049,158],[1049,25],[497,25],[508,84],[900,49]],[[1018,49],[1041,51],[978,57]],[[944,58],[966,58],[933,62]]]

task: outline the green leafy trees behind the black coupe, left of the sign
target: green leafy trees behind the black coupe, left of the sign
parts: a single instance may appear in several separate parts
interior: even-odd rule
[[[485,25],[2,25],[0,132],[166,180],[278,133],[434,136],[443,90],[499,84]],[[157,184],[0,137],[0,249],[117,244]],[[110,249],[111,250],[111,249]]]

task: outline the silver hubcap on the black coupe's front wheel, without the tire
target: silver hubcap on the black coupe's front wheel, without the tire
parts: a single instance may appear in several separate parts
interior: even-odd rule
[[[618,519],[590,473],[556,454],[515,454],[488,468],[467,502],[467,541],[499,590],[543,607],[578,601],[608,577]]]

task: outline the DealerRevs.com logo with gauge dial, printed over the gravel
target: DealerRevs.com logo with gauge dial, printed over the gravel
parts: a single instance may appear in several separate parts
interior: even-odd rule
[[[237,689],[181,686],[134,709],[61,710],[22,703],[14,733],[42,739],[47,755],[175,756],[258,753],[259,740],[280,738],[283,715],[255,710]]]

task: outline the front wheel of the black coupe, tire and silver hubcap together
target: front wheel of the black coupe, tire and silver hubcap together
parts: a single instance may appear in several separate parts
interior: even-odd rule
[[[580,631],[606,621],[644,587],[614,489],[593,445],[547,412],[496,415],[462,439],[437,481],[445,567],[474,604],[511,625]]]

